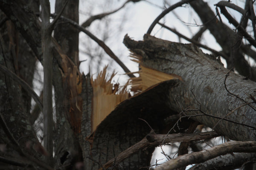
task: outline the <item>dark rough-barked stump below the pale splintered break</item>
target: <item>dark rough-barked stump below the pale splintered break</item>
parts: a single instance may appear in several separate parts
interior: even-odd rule
[[[136,100],[128,100],[124,105],[120,105],[121,108],[113,111],[111,116],[108,116],[108,119],[105,119],[102,124],[98,126],[96,131],[92,133],[90,125],[92,114],[92,87],[89,76],[83,77],[83,89],[85,90],[82,93],[84,103],[83,117],[79,139],[83,150],[86,170],[102,168],[103,164],[107,161],[113,159],[128,147],[143,139],[143,137],[149,133],[150,128],[145,122],[138,118],[143,118],[152,124],[154,122],[155,126],[153,125],[153,127],[161,125],[161,122],[154,120],[156,120],[157,117],[163,120],[162,115],[153,115],[153,113],[156,113],[157,108],[150,107],[150,105],[152,105],[152,103],[149,102],[150,97],[155,96],[150,96],[150,93],[146,93],[144,96],[138,96]],[[142,103],[144,104],[140,105]],[[164,108],[164,103],[160,105]],[[166,116],[166,113],[163,114]],[[153,150],[147,152],[140,151],[125,159],[125,161],[114,162],[113,167],[122,167],[132,170],[148,166],[152,151]]]

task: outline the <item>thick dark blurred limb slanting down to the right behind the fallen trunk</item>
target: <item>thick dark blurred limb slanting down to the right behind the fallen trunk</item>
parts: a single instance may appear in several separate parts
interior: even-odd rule
[[[240,48],[244,46],[241,42],[241,35],[235,33],[231,28],[215,18],[214,12],[203,0],[195,0],[189,4],[198,14],[204,26],[215,37],[218,44],[221,45],[222,51],[229,56],[225,58],[227,68],[236,67],[239,74],[255,81],[256,72],[244,59],[242,49]]]

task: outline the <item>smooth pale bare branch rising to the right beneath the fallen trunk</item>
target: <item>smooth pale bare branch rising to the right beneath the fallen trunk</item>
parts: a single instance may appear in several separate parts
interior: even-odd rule
[[[215,158],[217,156],[225,155],[227,153],[233,152],[256,152],[256,142],[254,141],[232,141],[226,142],[224,144],[219,144],[218,146],[211,147],[207,150],[200,152],[194,152],[182,156],[178,156],[175,159],[167,161],[157,167],[155,170],[175,170],[178,167],[187,166],[189,164],[196,164],[207,161],[209,159]]]

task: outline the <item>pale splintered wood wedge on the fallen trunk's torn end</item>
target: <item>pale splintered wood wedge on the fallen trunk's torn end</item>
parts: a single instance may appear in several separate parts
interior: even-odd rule
[[[140,63],[140,71],[134,72],[139,73],[140,77],[131,78],[129,83],[131,85],[131,91],[135,93],[142,92],[147,88],[166,80],[182,80],[182,78],[180,76],[177,76],[176,74],[166,74],[161,71],[144,67],[143,63],[141,62],[142,57],[138,54],[132,53],[130,57],[132,57],[132,61]]]

